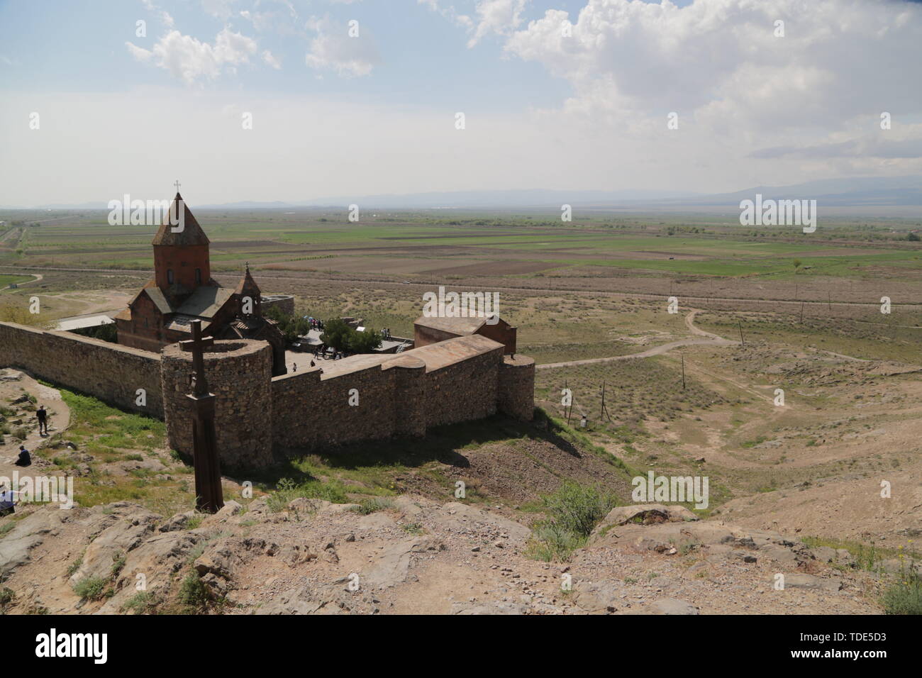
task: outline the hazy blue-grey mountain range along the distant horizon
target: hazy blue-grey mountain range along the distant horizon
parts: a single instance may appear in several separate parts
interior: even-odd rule
[[[292,209],[346,208],[355,203],[364,209],[437,208],[619,208],[674,211],[680,208],[739,208],[739,201],[753,198],[815,199],[819,205],[835,208],[922,206],[922,176],[853,177],[822,179],[786,186],[753,186],[734,193],[712,195],[683,191],[561,191],[502,190],[446,191],[381,196],[337,196],[285,202],[242,200],[220,205],[195,205],[196,209]],[[6,207],[5,209],[15,209]],[[41,205],[32,209],[107,209],[106,203]]]

